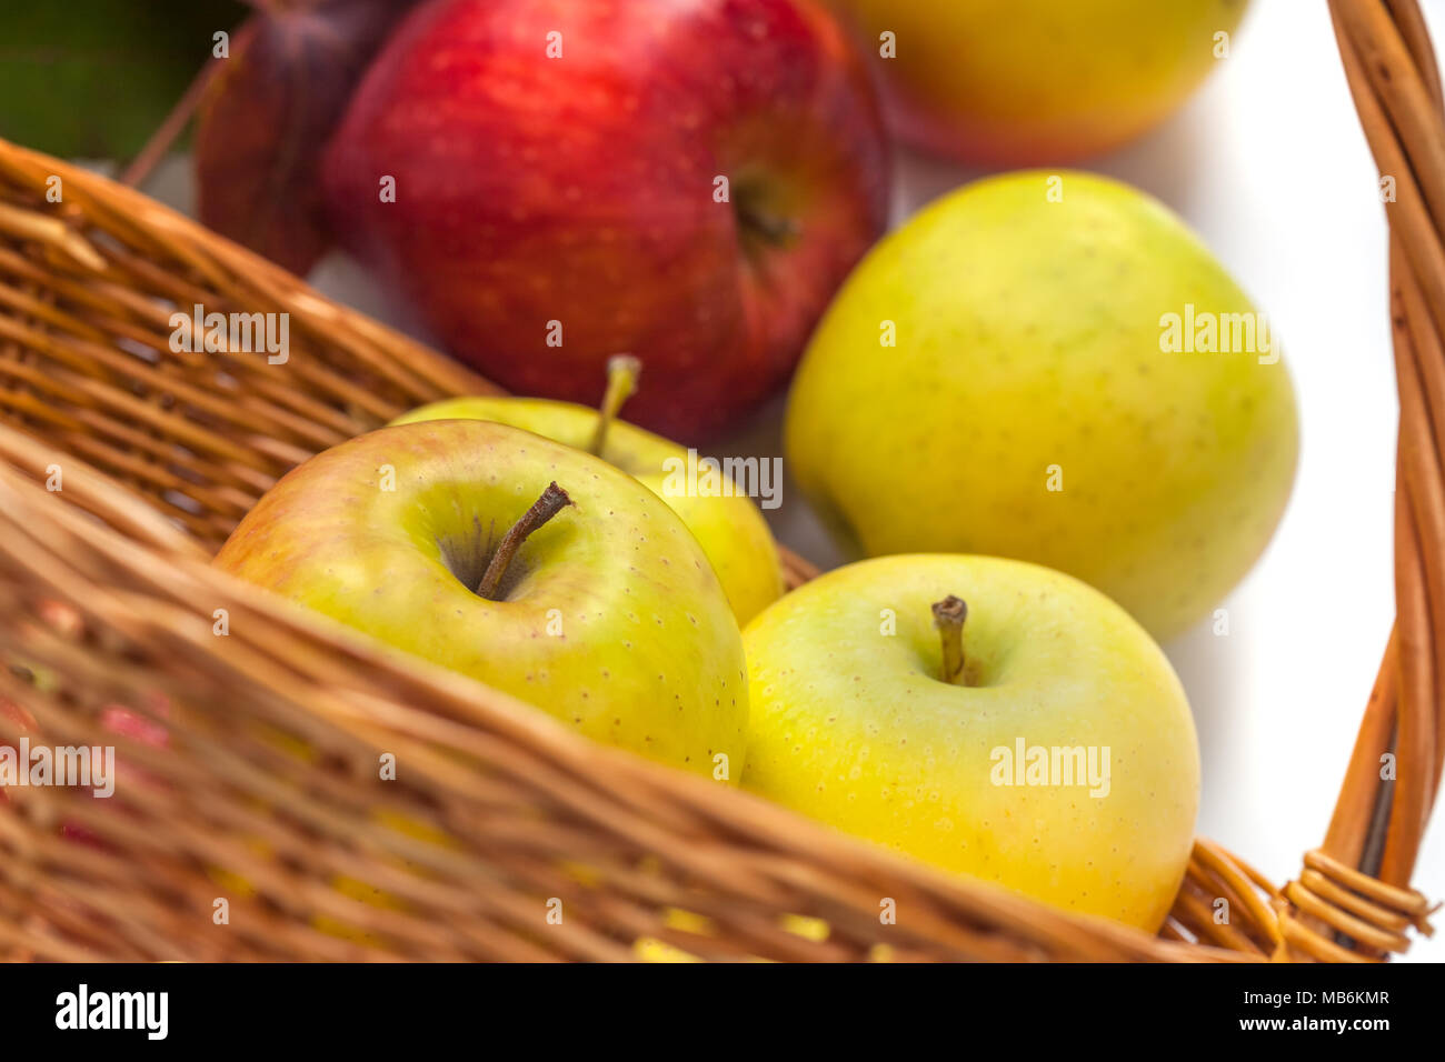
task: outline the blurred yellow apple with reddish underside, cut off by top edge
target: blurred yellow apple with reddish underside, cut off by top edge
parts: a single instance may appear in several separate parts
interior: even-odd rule
[[[874,56],[892,127],[939,155],[1068,162],[1169,116],[1247,0],[829,0]],[[1222,36],[1221,36],[1222,35]]]

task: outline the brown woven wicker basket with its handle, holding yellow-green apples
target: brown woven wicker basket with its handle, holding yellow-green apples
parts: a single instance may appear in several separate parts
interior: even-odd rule
[[[630,959],[649,954],[639,941],[712,959],[1403,951],[1410,926],[1429,932],[1409,878],[1445,756],[1445,123],[1413,0],[1331,12],[1397,182],[1399,616],[1298,880],[1276,889],[1201,839],[1157,938],[1068,916],[595,746],[214,571],[214,549],[299,461],[496,389],[127,188],[0,142],[0,740],[111,744],[126,782],[108,800],[0,795],[0,957]],[[288,312],[286,368],[173,353],[171,314],[195,303]],[[811,575],[786,565],[795,585]],[[377,782],[381,753],[396,782]],[[1397,777],[1383,782],[1386,753]]]

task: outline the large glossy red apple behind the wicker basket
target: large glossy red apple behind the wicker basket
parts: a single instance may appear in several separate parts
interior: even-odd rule
[[[338,237],[454,354],[595,403],[630,351],[629,420],[683,441],[786,381],[887,220],[867,71],[812,0],[434,0],[367,72],[324,172]],[[746,234],[744,204],[785,246]]]

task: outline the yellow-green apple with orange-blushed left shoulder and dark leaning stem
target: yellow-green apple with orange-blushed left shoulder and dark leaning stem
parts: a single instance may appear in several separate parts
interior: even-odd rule
[[[381,428],[292,470],[215,564],[600,741],[741,770],[743,643],[717,575],[591,454],[486,420]]]

